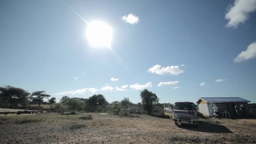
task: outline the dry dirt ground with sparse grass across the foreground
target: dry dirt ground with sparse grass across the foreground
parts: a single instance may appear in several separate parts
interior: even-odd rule
[[[79,117],[92,115],[92,120]],[[170,119],[106,113],[0,115],[0,144],[256,143],[256,120],[200,120],[176,126]]]

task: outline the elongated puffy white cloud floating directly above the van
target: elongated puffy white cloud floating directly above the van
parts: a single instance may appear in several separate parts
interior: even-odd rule
[[[180,69],[179,66],[161,67],[161,65],[156,64],[154,67],[149,68],[147,72],[155,73],[158,75],[179,75],[184,73],[184,70]]]

